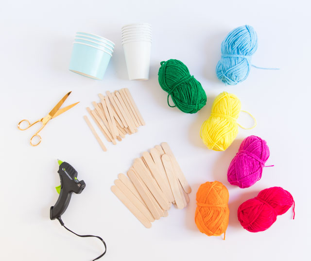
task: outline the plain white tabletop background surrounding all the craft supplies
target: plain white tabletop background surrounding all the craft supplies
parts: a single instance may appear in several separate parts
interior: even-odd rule
[[[81,239],[50,220],[58,194],[56,159],[68,161],[86,182],[72,195],[62,216],[81,234],[104,238],[103,260],[307,260],[310,258],[310,1],[295,0],[53,0],[2,1],[0,7],[1,188],[0,260],[86,261],[97,257],[97,239]],[[150,79],[129,81],[121,47],[121,26],[131,22],[153,26]],[[225,86],[215,75],[222,40],[235,27],[252,25],[259,38],[253,64],[281,70],[252,69],[237,86]],[[116,43],[103,81],[68,70],[76,31],[103,35]],[[207,105],[190,115],[170,108],[159,87],[160,62],[183,61],[202,83]],[[104,153],[82,116],[98,93],[128,87],[146,126]],[[68,91],[68,105],[80,104],[53,119],[31,147],[35,126],[21,132],[17,122],[45,116]],[[237,95],[242,109],[258,125],[240,128],[225,152],[208,150],[199,137],[214,98],[222,91]],[[242,117],[243,116],[243,117]],[[241,115],[239,122],[251,125]],[[95,124],[94,124],[95,125]],[[241,140],[257,135],[271,156],[262,178],[248,189],[229,185],[226,171]],[[186,209],[172,208],[167,218],[146,229],[110,191],[140,153],[167,141],[191,187]],[[230,219],[223,237],[207,237],[194,223],[195,193],[201,183],[218,180],[229,190]],[[264,232],[250,233],[237,219],[246,199],[280,186],[296,202]]]

